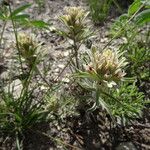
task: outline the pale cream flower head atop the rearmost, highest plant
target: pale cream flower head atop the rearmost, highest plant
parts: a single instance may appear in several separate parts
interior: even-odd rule
[[[91,35],[85,22],[88,13],[84,9],[81,7],[66,7],[64,10],[65,14],[60,16],[60,20],[66,26],[63,33],[65,32],[67,38],[79,42]]]

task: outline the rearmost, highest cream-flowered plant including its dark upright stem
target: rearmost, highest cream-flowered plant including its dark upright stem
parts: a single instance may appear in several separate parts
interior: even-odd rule
[[[70,62],[72,62],[74,67],[79,69],[79,48],[93,34],[87,27],[86,18],[88,12],[81,7],[66,7],[64,11],[65,14],[60,17],[60,21],[64,27],[62,30],[59,30],[59,33],[71,41],[72,51]]]

